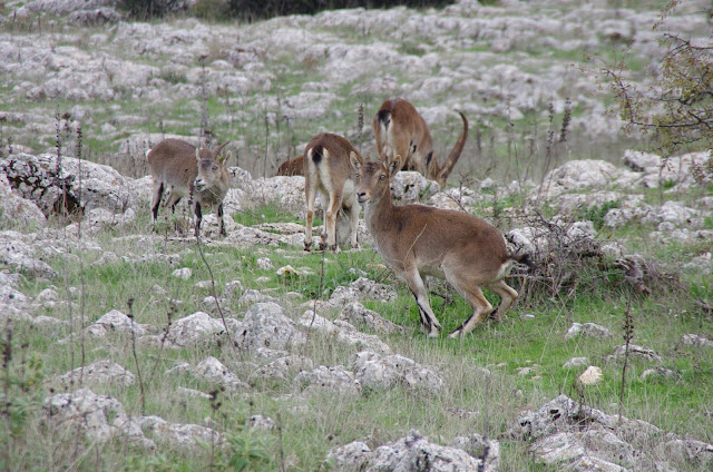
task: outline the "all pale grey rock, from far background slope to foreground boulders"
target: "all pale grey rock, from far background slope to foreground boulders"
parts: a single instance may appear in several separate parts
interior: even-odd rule
[[[172,277],[192,279],[191,269],[179,265],[178,250],[157,250],[165,235],[152,233],[148,226],[150,178],[140,165],[129,166],[126,160],[137,161],[147,147],[166,136],[164,129],[194,139],[204,94],[218,97],[217,102],[222,102],[219,97],[229,97],[229,104],[211,115],[211,120],[215,134],[233,139],[231,146],[243,156],[263,154],[244,130],[255,121],[267,122],[275,163],[287,155],[280,154],[284,145],[274,144],[285,136],[281,135],[284,129],[277,130],[279,124],[291,127],[291,139],[297,144],[328,124],[339,128],[331,131],[350,137],[363,132],[368,141],[369,120],[363,129],[354,130],[355,120],[344,116],[342,105],[349,96],[372,106],[390,96],[408,96],[423,104],[419,110],[429,124],[443,128],[452,120],[453,108],[462,109],[473,121],[495,122],[518,120],[528,114],[540,116],[549,102],[560,112],[569,99],[577,109],[574,131],[592,140],[616,141],[621,138],[618,121],[604,112],[596,81],[568,65],[582,52],[600,50],[602,41],[628,45],[632,57],[645,66],[655,63],[661,55],[657,33],[651,29],[656,11],[612,9],[606,1],[501,1],[496,7],[460,1],[438,11],[331,11],[241,27],[195,19],[127,22],[113,3],[13,1],[6,2],[2,11],[0,323],[42,330],[60,347],[76,342],[52,333],[67,332],[72,309],[78,313],[72,297],[79,288],[67,287],[68,295],[60,294],[57,285],[62,285],[64,274],[52,265],[57,257],[79,260],[77,254],[81,254],[95,266],[163,260],[172,267]],[[668,27],[694,36],[710,31],[701,3],[684,2],[668,19]],[[299,71],[293,65],[300,65]],[[293,81],[297,86],[291,85]],[[66,116],[55,117],[58,104],[62,108],[70,105]],[[72,157],[77,154],[68,151],[68,145],[76,146],[76,139],[66,141],[58,161],[57,128],[66,136],[66,130],[78,124],[85,136],[96,137],[94,145],[101,150],[92,153],[102,156],[98,160],[124,164],[111,167]],[[682,248],[677,269],[695,276],[712,274],[713,196],[709,189],[713,177],[704,175],[697,181],[692,177],[692,168],[710,163],[711,154],[677,156],[663,169],[660,156],[652,154],[627,150],[600,157],[569,160],[538,183],[485,178],[478,184],[439,188],[416,173],[400,173],[392,190],[399,204],[419,201],[472,213],[489,203],[506,201],[498,215],[494,210],[484,216],[508,220],[505,229],[512,248],[540,259],[563,246],[596,248],[602,257],[624,267],[627,282],[642,293],[651,293],[642,275],[647,268],[642,257],[627,249],[631,242],[626,236],[611,240],[604,233],[632,226],[651,228],[645,238],[652,246]],[[227,237],[217,237],[216,219],[206,215],[205,244],[250,247],[256,254],[261,248],[280,246],[300,255],[302,225],[244,226],[233,216],[272,203],[303,220],[304,179],[264,177],[271,175],[268,167],[247,167],[251,171],[231,168],[233,188],[225,201]],[[652,193],[660,193],[661,198],[652,198]],[[62,208],[75,215],[72,220],[58,217]],[[545,208],[547,215],[541,216]],[[545,224],[520,217],[533,214],[540,215]],[[590,214],[599,218],[596,227],[585,217]],[[120,236],[105,237],[111,229]],[[553,234],[559,239],[554,240]],[[359,238],[361,250],[370,250],[363,222]],[[131,249],[119,252],[119,240],[130,240]],[[172,240],[187,244],[192,238],[176,235]],[[315,276],[297,263],[295,267],[275,267],[262,254],[256,264],[281,276]],[[295,411],[306,407],[304,397],[325,391],[361,399],[369,392],[403,389],[436,399],[448,389],[447,368],[417,362],[384,341],[394,333],[412,336],[410,328],[364,307],[369,301],[395,298],[393,286],[361,277],[335,287],[328,299],[297,297],[291,302],[270,291],[244,287],[248,284],[238,275],[218,287],[217,298],[206,296],[201,311],[175,319],[167,330],[135,322],[117,306],[88,316],[82,336],[106,340],[108,346],[125,346],[134,340],[139,350],[187,350],[197,343],[234,345],[244,353],[238,363],[186,356],[163,374],[178,383],[193,378],[245,397],[265,382],[295,385],[299,395],[276,399]],[[29,295],[22,292],[27,281],[56,285]],[[203,288],[209,285],[206,281],[199,284]],[[152,296],[165,299],[173,294],[156,286]],[[219,311],[235,301],[240,311]],[[335,316],[322,316],[324,313]],[[522,316],[526,319],[527,314]],[[315,333],[335,345],[350,346],[353,354],[342,364],[330,365],[305,355],[301,346]],[[593,323],[573,323],[566,336],[604,340],[613,333]],[[702,327],[685,334],[681,345],[710,352],[713,338]],[[622,353],[617,346],[607,362],[621,362]],[[664,368],[661,356],[647,346],[632,344],[629,353],[651,363],[642,376],[671,382],[681,376]],[[79,431],[90,442],[120,439],[146,451],[165,444],[191,451],[199,442],[223,443],[225,439],[212,421],[195,424],[139,414],[104,395],[107,385],[127,387],[138,382],[138,372],[110,357],[48,380],[55,391],[42,399],[42,414],[53,429],[67,436]],[[590,364],[589,358],[573,357],[563,368],[584,371]],[[600,376],[597,368],[584,371],[588,375],[579,377],[580,383],[596,382]],[[489,367],[472,370],[484,378],[495,375]],[[521,366],[518,372],[535,374],[536,365]],[[76,389],[78,383],[82,389]],[[186,399],[209,401],[213,395],[207,389],[178,389],[175,394]],[[274,433],[276,420],[253,415],[246,424]],[[713,444],[701,437],[607,414],[583,399],[565,395],[520,412],[507,430],[499,437],[463,431],[447,444],[410,431],[397,441],[368,444],[363,439],[333,444],[324,460],[344,471],[497,471],[504,459],[501,441],[518,441],[527,444],[536,462],[556,470],[684,471],[713,466]]]

